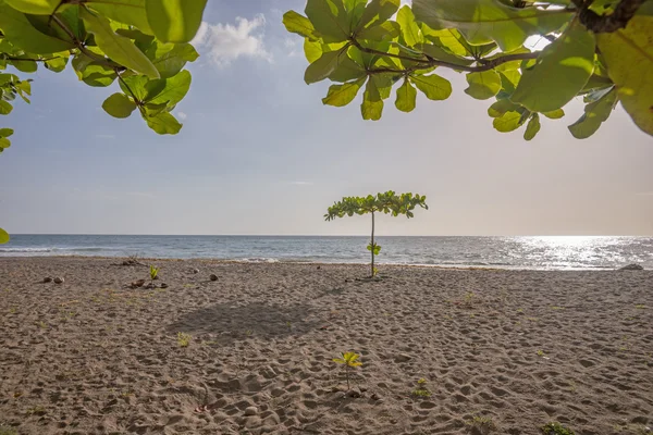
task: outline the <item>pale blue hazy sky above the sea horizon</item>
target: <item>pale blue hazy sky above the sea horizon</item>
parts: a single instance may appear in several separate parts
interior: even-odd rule
[[[451,71],[446,101],[418,97],[381,121],[359,99],[322,105],[329,83],[307,86],[301,38],[282,14],[303,0],[210,0],[188,69],[193,85],[159,136],[134,114],[101,109],[115,92],[72,69],[33,76],[0,126],[15,129],[0,156],[0,226],[13,234],[365,235],[369,217],[324,222],[343,196],[395,190],[427,196],[415,219],[382,216],[380,235],[653,235],[653,138],[621,108],[590,139],[562,120],[530,142],[502,134],[491,100]]]

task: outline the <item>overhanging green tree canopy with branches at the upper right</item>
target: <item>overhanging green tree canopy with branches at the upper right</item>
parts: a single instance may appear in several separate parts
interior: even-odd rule
[[[349,104],[362,90],[361,115],[379,120],[395,90],[395,107],[410,112],[417,91],[446,100],[451,83],[435,73],[465,73],[465,92],[494,101],[498,132],[540,116],[560,119],[582,97],[583,115],[569,125],[576,138],[593,135],[617,102],[653,135],[653,0],[308,0],[305,15],[285,13],[288,32],[305,38],[307,84],[329,79],[324,104]],[[549,40],[541,51],[530,37]],[[397,86],[395,87],[395,84]]]

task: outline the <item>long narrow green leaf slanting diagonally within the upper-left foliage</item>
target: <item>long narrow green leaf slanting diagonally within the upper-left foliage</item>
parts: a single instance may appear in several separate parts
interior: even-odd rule
[[[147,59],[143,51],[138,50],[132,40],[113,32],[109,20],[100,15],[95,15],[84,8],[79,10],[79,15],[84,20],[88,32],[95,35],[98,47],[109,58],[148,77],[160,77],[155,65]]]

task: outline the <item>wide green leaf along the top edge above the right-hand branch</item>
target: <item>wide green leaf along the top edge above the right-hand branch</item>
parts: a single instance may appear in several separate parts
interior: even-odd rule
[[[531,35],[559,29],[572,11],[512,8],[497,0],[414,0],[417,21],[433,29],[457,28],[472,45],[491,41],[513,51]]]

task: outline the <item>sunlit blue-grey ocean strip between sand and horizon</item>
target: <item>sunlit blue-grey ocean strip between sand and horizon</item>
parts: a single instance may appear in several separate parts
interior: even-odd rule
[[[653,237],[378,237],[380,264],[602,270],[653,269]],[[1,257],[209,258],[244,262],[366,263],[368,237],[12,235]]]

